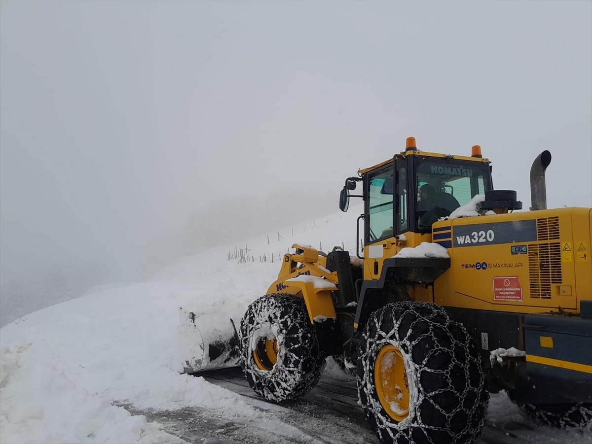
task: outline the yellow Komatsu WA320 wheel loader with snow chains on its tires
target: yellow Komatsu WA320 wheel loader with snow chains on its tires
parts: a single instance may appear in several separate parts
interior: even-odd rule
[[[478,145],[437,154],[410,137],[348,177],[340,209],[363,200],[355,257],[295,244],[236,330],[253,390],[293,400],[334,357],[388,444],[474,443],[501,390],[556,426],[590,421],[592,210],[546,209],[550,162],[532,164],[529,211],[494,190]]]

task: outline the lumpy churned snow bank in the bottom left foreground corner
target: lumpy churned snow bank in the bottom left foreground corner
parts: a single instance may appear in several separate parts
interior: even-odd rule
[[[60,368],[59,357],[38,362],[43,343],[2,348],[2,442],[183,442],[92,396]]]

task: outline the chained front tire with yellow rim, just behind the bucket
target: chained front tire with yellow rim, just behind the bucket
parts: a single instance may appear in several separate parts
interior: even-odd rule
[[[303,396],[321,377],[325,359],[301,297],[271,294],[250,304],[240,322],[239,341],[247,381],[268,401]]]

